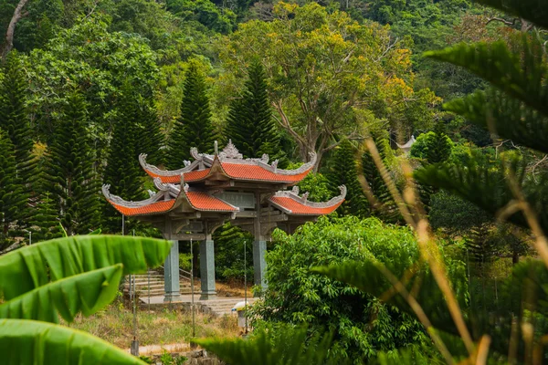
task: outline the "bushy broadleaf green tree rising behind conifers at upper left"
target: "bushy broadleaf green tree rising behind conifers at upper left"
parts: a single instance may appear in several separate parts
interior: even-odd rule
[[[44,49],[26,57],[30,79],[29,105],[41,141],[51,141],[59,113],[76,86],[87,101],[90,132],[101,158],[116,120],[116,103],[124,83],[153,96],[158,79],[157,54],[138,35],[110,32],[105,16],[94,14],[60,30]]]

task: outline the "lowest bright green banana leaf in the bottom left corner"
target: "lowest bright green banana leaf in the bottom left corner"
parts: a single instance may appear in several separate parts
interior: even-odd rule
[[[6,365],[145,364],[86,332],[25,319],[0,320],[0,351]]]

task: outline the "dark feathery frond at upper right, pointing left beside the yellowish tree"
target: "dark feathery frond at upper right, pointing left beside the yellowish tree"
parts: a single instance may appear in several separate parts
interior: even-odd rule
[[[460,44],[425,55],[466,68],[511,98],[548,116],[548,64],[543,62],[542,45],[524,36],[512,48],[502,41]]]

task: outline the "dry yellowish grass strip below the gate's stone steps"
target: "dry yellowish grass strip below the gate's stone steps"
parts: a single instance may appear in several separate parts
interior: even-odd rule
[[[196,338],[237,337],[237,318],[216,318],[196,313]],[[121,349],[128,349],[133,339],[132,311],[120,304],[112,304],[88,318],[79,315],[74,322],[64,325],[89,332],[111,342]],[[166,345],[188,342],[192,338],[192,316],[181,309],[162,309],[148,312],[137,311],[137,339],[141,346]]]

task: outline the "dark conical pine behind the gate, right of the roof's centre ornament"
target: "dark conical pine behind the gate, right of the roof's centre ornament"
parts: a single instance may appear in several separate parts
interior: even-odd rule
[[[255,60],[248,68],[243,98],[236,99],[228,113],[226,138],[231,139],[244,157],[263,153],[279,158],[279,134],[272,119],[264,68]]]

